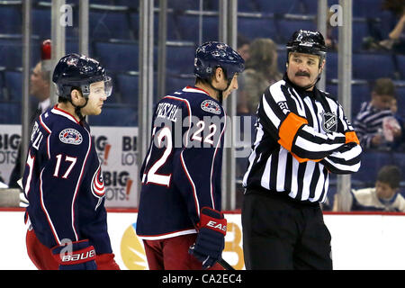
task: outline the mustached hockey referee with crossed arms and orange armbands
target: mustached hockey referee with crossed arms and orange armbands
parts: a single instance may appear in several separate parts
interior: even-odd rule
[[[362,148],[342,106],[316,84],[325,67],[319,31],[295,31],[284,79],[257,107],[257,136],[243,178],[247,269],[332,269],[320,203],[329,173],[360,167]]]

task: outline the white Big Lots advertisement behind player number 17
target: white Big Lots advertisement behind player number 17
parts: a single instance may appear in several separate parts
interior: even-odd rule
[[[138,128],[92,127],[91,133],[102,163],[106,207],[135,207],[138,201]],[[6,184],[20,141],[20,125],[0,125],[0,178]]]

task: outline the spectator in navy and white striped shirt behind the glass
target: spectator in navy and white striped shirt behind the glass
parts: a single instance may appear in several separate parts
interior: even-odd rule
[[[363,148],[390,149],[392,142],[401,139],[401,127],[391,111],[394,98],[395,85],[392,80],[377,79],[372,89],[371,101],[362,103],[354,121]]]

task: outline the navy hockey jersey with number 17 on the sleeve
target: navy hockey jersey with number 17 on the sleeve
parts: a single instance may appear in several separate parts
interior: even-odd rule
[[[89,239],[97,254],[112,253],[103,175],[85,121],[57,106],[40,115],[31,132],[23,190],[43,245]]]

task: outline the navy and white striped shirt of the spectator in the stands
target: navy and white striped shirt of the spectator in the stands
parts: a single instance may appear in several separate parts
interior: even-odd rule
[[[372,148],[372,139],[383,129],[383,119],[390,116],[393,116],[391,110],[376,109],[370,102],[362,103],[353,122],[362,147]]]

